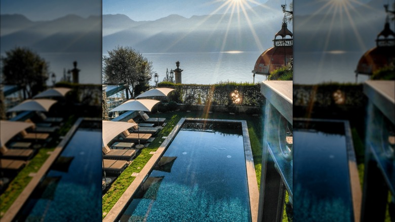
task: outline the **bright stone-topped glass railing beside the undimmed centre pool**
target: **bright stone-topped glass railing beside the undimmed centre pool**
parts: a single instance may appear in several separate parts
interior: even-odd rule
[[[258,221],[282,221],[285,191],[292,205],[292,81],[264,81],[266,98]]]

